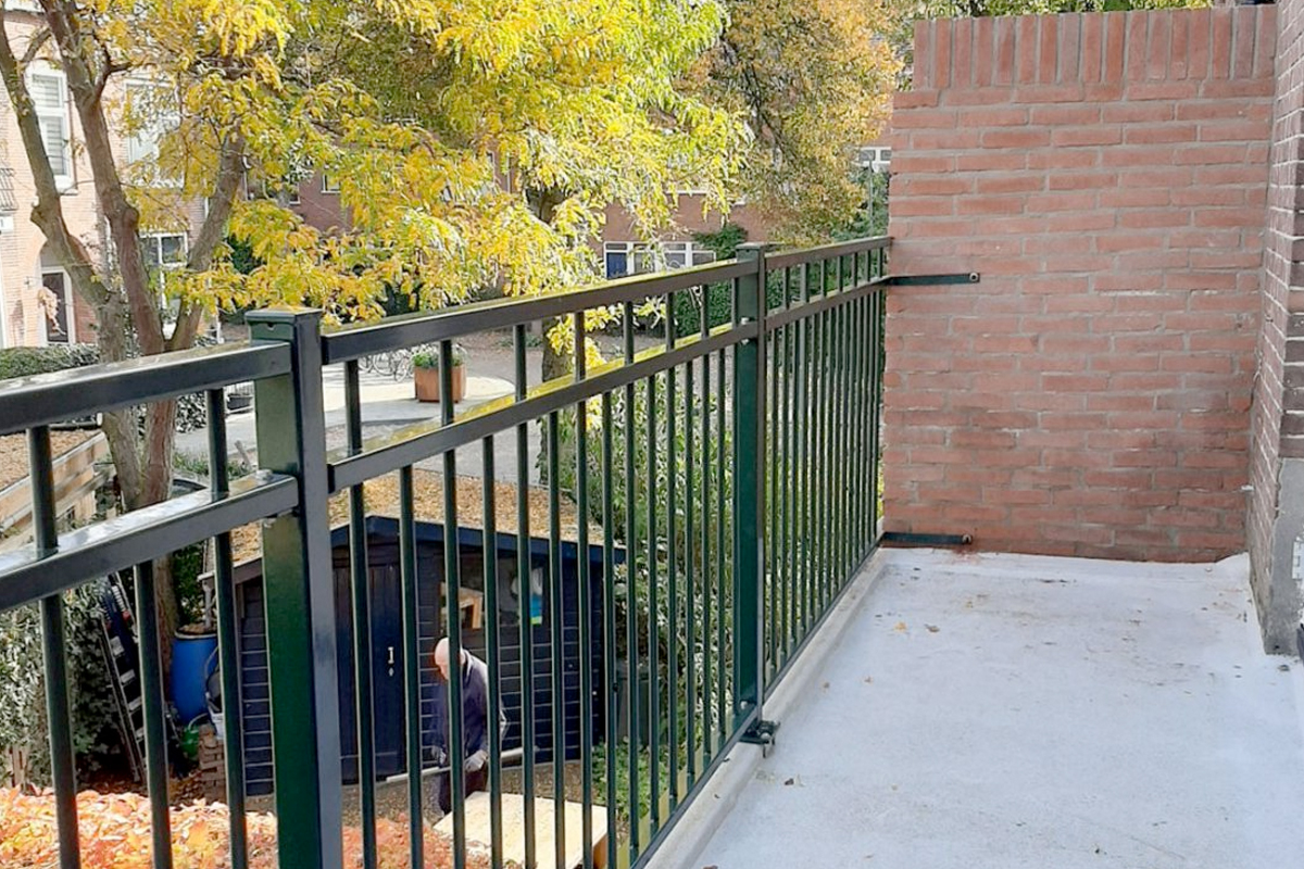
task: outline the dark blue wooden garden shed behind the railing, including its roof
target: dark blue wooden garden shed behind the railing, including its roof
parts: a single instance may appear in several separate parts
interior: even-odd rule
[[[438,473],[415,472],[416,539],[419,577],[419,623],[421,634],[422,730],[433,726],[434,697],[442,691],[432,659],[434,645],[445,634],[443,616],[443,477]],[[462,642],[473,654],[486,658],[486,631],[497,619],[499,631],[498,674],[503,711],[509,730],[505,749],[522,744],[522,644],[520,618],[533,612],[529,636],[533,649],[535,756],[552,758],[552,590],[548,580],[549,543],[546,538],[546,491],[531,489],[531,577],[522,591],[518,577],[516,486],[496,485],[497,533],[490,542],[498,571],[498,612],[482,607],[484,593],[484,516],[480,500],[482,481],[463,477],[458,481],[458,551],[462,572],[463,602]],[[366,483],[368,571],[372,586],[372,684],[374,700],[376,774],[394,775],[407,770],[404,739],[404,668],[402,582],[399,568],[398,486],[394,479]],[[331,500],[331,543],[334,547],[335,612],[338,624],[340,753],[342,774],[347,783],[357,780],[356,705],[353,701],[353,625],[349,591],[348,502],[344,496]],[[545,535],[540,535],[540,532]],[[593,692],[592,734],[599,737],[605,727],[602,702],[602,588],[604,565],[601,546],[580,552],[576,516],[572,507],[562,513],[562,631],[566,754],[579,753],[579,674],[584,655],[579,648],[579,563],[589,564],[592,608],[588,619]],[[233,535],[236,555],[236,611],[240,638],[240,684],[245,723],[245,776],[250,795],[269,793],[271,770],[271,705],[267,680],[267,642],[262,560],[258,534],[253,528],[239,529]],[[595,532],[589,539],[601,539]],[[623,559],[623,554],[617,554]]]

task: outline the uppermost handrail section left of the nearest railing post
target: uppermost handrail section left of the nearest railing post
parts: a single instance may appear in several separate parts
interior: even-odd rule
[[[288,371],[288,345],[239,343],[0,380],[0,435]]]

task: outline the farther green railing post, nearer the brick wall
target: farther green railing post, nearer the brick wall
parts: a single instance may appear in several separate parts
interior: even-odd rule
[[[734,319],[755,324],[756,337],[734,344],[733,383],[733,705],[734,730],[746,726],[742,739],[767,748],[776,724],[760,715],[764,697],[764,577],[765,541],[765,245],[738,248],[738,259],[752,261],[756,271],[738,279]]]

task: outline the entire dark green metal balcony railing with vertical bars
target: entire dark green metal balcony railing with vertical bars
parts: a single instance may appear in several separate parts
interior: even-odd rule
[[[413,773],[407,779],[408,860],[421,864],[422,843],[433,833],[413,761],[425,736],[422,644],[432,637],[422,636],[419,615],[422,580],[430,577],[419,571],[422,478],[413,468],[430,460],[438,460],[443,478],[442,634],[450,659],[458,661],[463,648],[459,589],[481,581],[489,612],[488,719],[497,720],[505,707],[502,645],[519,642],[519,791],[535,795],[541,765],[550,765],[550,792],[540,800],[550,799],[558,810],[552,829],[540,831],[536,813],[545,803],[523,801],[524,865],[562,865],[576,838],[585,869],[645,864],[730,748],[769,739],[764,698],[875,546],[887,248],[885,238],[781,253],[745,246],[737,261],[329,334],[314,311],[265,311],[249,315],[248,344],[0,384],[0,434],[29,433],[38,519],[34,547],[0,558],[0,608],[39,602],[48,685],[67,684],[60,593],[136,568],[155,866],[170,866],[171,856],[149,565],[183,546],[215,541],[223,692],[239,697],[230,534],[253,521],[262,522],[280,865],[342,865],[339,625],[329,512],[336,492],[348,499],[360,862],[365,869],[378,864],[374,599],[363,486],[386,476],[396,477],[399,492],[399,664]],[[664,340],[640,350],[649,315]],[[531,323],[571,330],[572,375],[527,387]],[[489,330],[511,332],[512,395],[460,414],[443,401],[438,420],[364,439],[361,360],[432,345],[441,361],[441,393],[449,396],[454,341]],[[613,335],[615,358],[589,365],[587,339]],[[330,365],[343,365],[346,386],[346,446],[335,452],[326,449],[322,396],[322,369]],[[256,384],[261,469],[231,482],[222,390],[248,380]],[[210,491],[56,535],[47,426],[192,392],[209,396]],[[533,427],[540,430],[537,446]],[[515,466],[505,470],[518,481],[514,578],[522,603],[516,624],[506,627],[498,593],[501,580],[511,577],[499,577],[502,565],[488,556],[490,545],[503,539],[496,524],[503,496],[494,485],[499,442],[514,446]],[[479,577],[464,576],[459,552],[464,529],[455,481],[469,451],[479,451],[482,466],[479,539],[485,558]],[[527,485],[533,468],[546,489],[544,528],[532,528],[539,524]],[[575,517],[570,530],[563,529],[567,511]],[[572,541],[563,539],[570,534]],[[563,571],[570,543],[580,554],[574,577]],[[591,547],[600,551],[592,562],[584,555]],[[535,655],[528,603],[536,571],[545,576],[546,659]],[[572,591],[579,614],[574,632],[565,615]],[[571,648],[578,651],[567,658]],[[578,674],[567,670],[572,659]],[[544,684],[548,709],[540,718]],[[569,687],[578,693],[578,744],[569,737]],[[460,758],[460,680],[441,691],[451,710],[447,753]],[[47,696],[60,860],[69,868],[78,865],[78,847],[68,702],[60,689]],[[240,704],[227,709],[231,865],[243,869],[243,724]],[[476,838],[489,839],[482,846],[497,866],[512,855],[505,853],[503,743],[496,727],[489,730],[490,823]],[[471,847],[464,790],[454,775],[455,866],[466,865]],[[578,834],[567,830],[561,810],[567,800],[582,805]],[[540,833],[550,835],[552,853],[541,851]]]

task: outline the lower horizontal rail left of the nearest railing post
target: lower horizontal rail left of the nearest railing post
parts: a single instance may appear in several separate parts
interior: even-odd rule
[[[293,477],[259,472],[231,483],[231,491],[194,492],[78,528],[59,537],[59,548],[34,547],[0,556],[0,611],[162,558],[241,525],[299,506]]]

